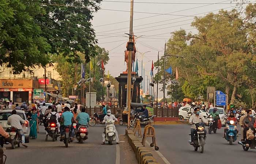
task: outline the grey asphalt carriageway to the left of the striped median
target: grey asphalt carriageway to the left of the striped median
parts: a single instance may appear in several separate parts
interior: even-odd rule
[[[6,164],[71,164],[71,163],[93,163],[93,164],[115,164],[116,144],[101,145],[103,125],[89,127],[89,139],[83,144],[75,141],[65,148],[63,142],[45,141],[45,131],[43,126],[39,126],[39,134],[36,140],[30,140],[28,148],[20,147],[10,149],[10,145],[4,145],[7,155]],[[125,133],[124,126],[117,126],[119,134]],[[51,137],[48,137],[50,140]],[[122,162],[122,158],[120,158]]]

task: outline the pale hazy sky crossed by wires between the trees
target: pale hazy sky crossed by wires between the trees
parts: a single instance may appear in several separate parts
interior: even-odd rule
[[[102,9],[94,13],[92,21],[98,39],[98,45],[109,51],[110,60],[105,67],[106,73],[109,70],[109,73],[113,77],[117,77],[126,70],[124,50],[128,38],[124,33],[129,33],[128,20],[130,13],[124,11],[130,11],[130,3],[125,3],[129,1],[130,0],[103,0],[101,4]],[[143,56],[145,75],[150,75],[151,62],[152,60],[153,62],[157,61],[158,51],[159,58],[163,55],[164,44],[170,38],[171,32],[185,29],[187,32],[196,33],[196,30],[193,29],[190,24],[194,16],[203,17],[209,12],[218,13],[219,9],[229,11],[236,6],[235,4],[230,4],[231,0],[134,0],[134,2],[133,32],[134,35],[141,36],[136,40],[136,50],[138,51],[136,58],[138,59],[140,76],[142,74],[142,55],[140,53],[150,51]],[[166,66],[166,68],[168,67],[169,66]],[[157,70],[154,70],[154,73],[156,72]],[[147,77],[145,78],[147,80]],[[158,92],[158,95],[158,97],[163,97],[162,92]]]

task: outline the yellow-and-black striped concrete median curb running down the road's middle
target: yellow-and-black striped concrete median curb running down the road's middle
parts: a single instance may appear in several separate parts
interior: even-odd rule
[[[125,134],[139,164],[159,164],[151,151],[142,145],[138,137],[134,136],[133,130],[125,129]]]

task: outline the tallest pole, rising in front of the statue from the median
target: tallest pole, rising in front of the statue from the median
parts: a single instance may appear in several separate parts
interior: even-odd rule
[[[130,30],[129,42],[132,42],[133,34],[133,0],[131,0],[130,10]],[[128,60],[128,77],[127,77],[127,106],[128,106],[128,128],[130,128],[130,115],[131,115],[131,86],[132,86],[132,51],[129,51]]]

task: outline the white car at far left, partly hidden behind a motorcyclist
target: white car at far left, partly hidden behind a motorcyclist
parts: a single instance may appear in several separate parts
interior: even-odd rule
[[[29,121],[27,120],[26,113],[23,110],[16,110],[17,113],[23,120],[27,121],[27,124],[23,124],[22,130],[25,134],[25,143],[29,143],[29,133],[30,133],[30,125]],[[11,127],[7,124],[8,117],[12,115],[12,110],[1,110],[0,111],[0,125],[6,130],[7,128]]]

